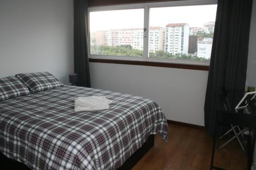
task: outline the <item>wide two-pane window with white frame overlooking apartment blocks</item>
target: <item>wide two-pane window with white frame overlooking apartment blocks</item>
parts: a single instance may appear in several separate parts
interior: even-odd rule
[[[209,64],[217,0],[89,8],[90,58]]]

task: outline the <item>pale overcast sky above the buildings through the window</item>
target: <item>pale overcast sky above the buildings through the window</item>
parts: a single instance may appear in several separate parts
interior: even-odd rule
[[[215,21],[217,5],[163,7],[150,9],[150,26],[165,27],[168,23],[188,23],[203,27]],[[100,11],[90,13],[91,32],[110,29],[144,28],[143,9]]]

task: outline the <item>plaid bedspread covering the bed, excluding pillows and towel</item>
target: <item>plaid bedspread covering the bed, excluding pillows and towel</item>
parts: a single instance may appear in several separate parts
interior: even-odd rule
[[[110,109],[74,112],[74,98],[91,95]],[[167,132],[160,107],[130,94],[64,86],[0,102],[0,152],[31,169],[116,169]]]

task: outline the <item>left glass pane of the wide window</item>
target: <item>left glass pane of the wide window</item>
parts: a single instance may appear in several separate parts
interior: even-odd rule
[[[144,9],[90,12],[91,54],[143,56]]]

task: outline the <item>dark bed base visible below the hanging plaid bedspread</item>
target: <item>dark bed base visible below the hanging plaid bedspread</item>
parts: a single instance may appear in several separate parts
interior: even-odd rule
[[[127,159],[118,170],[132,169],[134,165],[154,146],[155,136],[150,135],[145,143],[139,148],[129,159]],[[0,153],[0,169],[19,169],[19,170],[30,170],[30,168],[20,162],[9,159]]]

